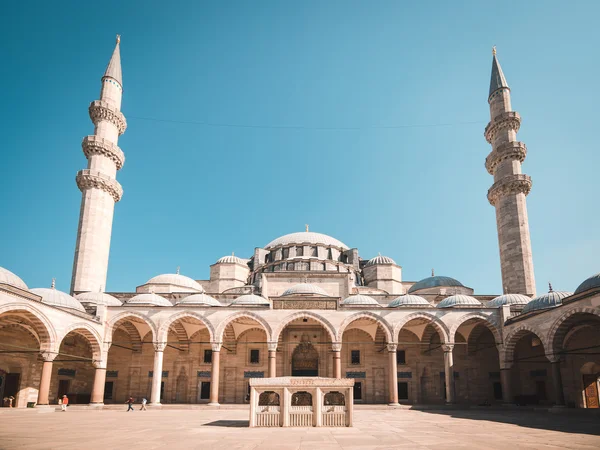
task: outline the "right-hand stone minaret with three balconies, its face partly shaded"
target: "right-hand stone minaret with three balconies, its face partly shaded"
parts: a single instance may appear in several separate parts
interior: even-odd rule
[[[521,116],[510,105],[510,88],[493,49],[490,82],[490,123],[485,138],[492,152],[485,160],[487,171],[494,176],[488,200],[496,208],[502,285],[505,293],[535,295],[533,258],[527,202],[531,178],[521,173],[527,155],[525,144],[517,141]]]

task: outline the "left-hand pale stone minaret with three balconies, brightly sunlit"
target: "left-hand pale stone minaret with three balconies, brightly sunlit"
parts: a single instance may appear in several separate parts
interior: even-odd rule
[[[115,203],[123,195],[116,174],[123,167],[125,155],[117,142],[127,128],[121,113],[120,40],[117,36],[115,50],[102,77],[100,100],[93,101],[89,107],[94,134],[86,136],[81,144],[88,166],[76,177],[82,195],[71,279],[72,294],[97,292],[106,286],[113,212]]]

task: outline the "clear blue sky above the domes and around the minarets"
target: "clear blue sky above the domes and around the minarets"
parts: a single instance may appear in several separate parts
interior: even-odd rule
[[[177,266],[207,278],[308,223],[393,257],[405,280],[435,268],[498,293],[483,137],[496,45],[529,152],[538,291],[574,290],[599,270],[599,15],[594,1],[7,4],[0,265],[69,289],[87,106],[120,33],[108,291]]]

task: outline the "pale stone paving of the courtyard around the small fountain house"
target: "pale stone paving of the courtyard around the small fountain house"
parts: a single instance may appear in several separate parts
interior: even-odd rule
[[[3,410],[0,448],[600,448],[599,416],[570,412],[358,410],[353,428],[247,426],[247,410]]]

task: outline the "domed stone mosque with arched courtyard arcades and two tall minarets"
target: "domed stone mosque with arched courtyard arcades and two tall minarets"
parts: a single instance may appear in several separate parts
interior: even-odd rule
[[[117,38],[89,106],[94,133],[82,142],[71,292],[54,283],[30,289],[0,268],[3,406],[13,397],[16,407],[42,407],[63,394],[98,407],[129,396],[151,405],[246,403],[250,379],[320,376],[354,379],[355,403],[598,408],[600,274],[574,292],[535,292],[527,149],[495,51],[484,136],[499,295],[433,272],[406,281],[394,259],[363,259],[308,226],[248,258],[218,259],[208,280],[177,270],[131,292],[103,292],[123,195],[122,89]]]

